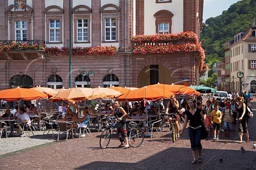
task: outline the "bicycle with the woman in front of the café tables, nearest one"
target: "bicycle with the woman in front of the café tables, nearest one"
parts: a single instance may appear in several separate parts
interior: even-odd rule
[[[115,121],[116,120],[113,119],[113,122]],[[100,135],[101,149],[107,148],[113,132],[115,132],[117,136],[119,136],[115,128],[116,128],[115,124],[111,122],[111,118],[108,118],[107,127],[103,130],[103,132]],[[133,147],[133,148],[139,147],[143,143],[144,130],[141,127],[139,127],[137,124],[133,125],[131,123],[126,122],[126,132],[127,132],[127,138],[128,138],[128,143],[130,147]],[[124,136],[119,136],[119,140],[124,141]]]

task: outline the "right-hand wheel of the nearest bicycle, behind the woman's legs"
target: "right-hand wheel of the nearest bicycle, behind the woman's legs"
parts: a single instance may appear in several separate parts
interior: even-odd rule
[[[139,147],[144,140],[144,130],[137,126],[131,126],[127,131],[127,138],[131,147]]]

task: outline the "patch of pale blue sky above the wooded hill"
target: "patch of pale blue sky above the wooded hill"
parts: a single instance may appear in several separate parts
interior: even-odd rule
[[[223,11],[229,9],[230,5],[241,0],[204,0],[203,22],[208,18],[217,17]]]

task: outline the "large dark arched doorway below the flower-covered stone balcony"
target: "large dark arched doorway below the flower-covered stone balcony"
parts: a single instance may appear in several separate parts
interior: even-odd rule
[[[138,87],[157,83],[173,83],[172,74],[166,67],[160,65],[151,65],[147,66],[140,72],[138,77]]]

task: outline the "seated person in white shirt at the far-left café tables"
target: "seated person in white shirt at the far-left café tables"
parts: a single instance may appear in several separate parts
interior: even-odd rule
[[[27,125],[26,125],[27,127],[30,126],[30,124],[31,124],[30,118],[29,118],[28,114],[26,114],[26,112],[25,112],[25,108],[20,108],[19,114],[14,115],[14,117],[15,117],[15,119],[21,120],[21,123],[14,125],[15,131],[17,132],[16,136],[20,136],[20,137],[25,136],[25,134],[22,134],[22,128],[23,128],[23,126],[25,126],[26,123],[27,123]]]

